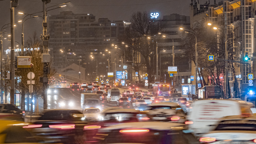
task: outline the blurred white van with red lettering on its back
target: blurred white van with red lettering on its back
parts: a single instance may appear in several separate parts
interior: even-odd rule
[[[192,103],[188,113],[188,128],[200,136],[213,130],[220,118],[225,116],[252,114],[251,102],[241,100],[198,100]]]

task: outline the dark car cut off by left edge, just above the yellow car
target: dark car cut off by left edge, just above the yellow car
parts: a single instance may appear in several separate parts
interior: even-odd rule
[[[0,119],[24,121],[22,110],[11,104],[0,104]]]

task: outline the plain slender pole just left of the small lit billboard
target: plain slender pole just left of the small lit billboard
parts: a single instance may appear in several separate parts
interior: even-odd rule
[[[15,104],[15,48],[14,48],[14,7],[18,2],[11,0],[11,91],[10,104]]]

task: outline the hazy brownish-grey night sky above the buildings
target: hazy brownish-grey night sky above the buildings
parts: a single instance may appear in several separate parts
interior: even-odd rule
[[[73,11],[75,14],[93,14],[98,18],[108,18],[109,20],[128,20],[137,11],[159,12],[160,18],[164,15],[177,13],[189,16],[189,6],[191,0],[51,0],[47,7],[71,1],[66,7],[48,11],[48,15],[59,14],[60,11]],[[199,0],[200,4],[206,0]],[[217,0],[219,1],[219,0]],[[213,4],[213,0],[210,0]],[[15,21],[22,20],[25,15],[18,12],[32,14],[42,11],[42,0],[18,0],[18,8],[15,9]],[[38,13],[42,16],[42,13]],[[10,0],[0,1],[0,27],[10,23]],[[15,27],[15,41],[21,44],[21,23]],[[31,18],[24,24],[25,41],[31,36],[33,31],[37,31],[38,36],[42,33],[42,18]],[[7,37],[10,28],[6,30]],[[9,38],[10,39],[10,38]],[[3,41],[4,47],[10,46],[10,41]],[[16,46],[17,43],[15,43]]]

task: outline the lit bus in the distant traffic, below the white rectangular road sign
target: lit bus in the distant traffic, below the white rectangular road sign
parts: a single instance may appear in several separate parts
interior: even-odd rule
[[[152,94],[154,96],[170,96],[171,95],[171,85],[164,83],[152,84]]]

